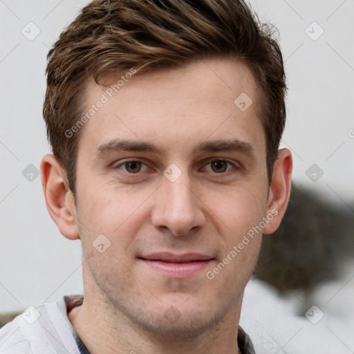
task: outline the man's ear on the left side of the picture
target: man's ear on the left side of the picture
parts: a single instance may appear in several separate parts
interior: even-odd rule
[[[60,233],[67,239],[80,239],[73,193],[68,188],[64,169],[51,154],[41,160],[41,184],[48,212]]]

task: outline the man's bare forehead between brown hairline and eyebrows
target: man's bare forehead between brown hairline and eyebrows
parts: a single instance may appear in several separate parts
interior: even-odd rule
[[[236,138],[263,148],[257,82],[237,59],[203,59],[168,70],[120,73],[109,82],[113,84],[100,86],[90,80],[86,85],[84,114],[93,115],[83,127],[79,149],[87,153],[116,138],[156,142],[167,153],[176,147],[191,152],[208,138]]]

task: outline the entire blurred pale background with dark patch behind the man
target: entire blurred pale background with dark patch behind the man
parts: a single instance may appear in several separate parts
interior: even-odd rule
[[[292,197],[263,239],[241,326],[257,353],[354,353],[354,1],[249,1],[279,30]],[[88,1],[0,0],[0,313],[82,293],[39,176],[46,54]]]

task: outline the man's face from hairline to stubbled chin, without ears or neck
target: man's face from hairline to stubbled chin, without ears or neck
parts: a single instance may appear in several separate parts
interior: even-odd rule
[[[215,58],[106,89],[88,83],[84,111],[109,99],[78,146],[85,296],[156,333],[196,335],[237,313],[270,217],[257,84]]]

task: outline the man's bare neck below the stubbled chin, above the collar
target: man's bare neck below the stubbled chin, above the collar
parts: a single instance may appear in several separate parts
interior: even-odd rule
[[[240,354],[237,330],[241,301],[237,300],[237,304],[213,328],[192,338],[151,333],[132,323],[118,310],[108,308],[104,301],[86,296],[82,306],[68,313],[68,319],[91,354]]]

